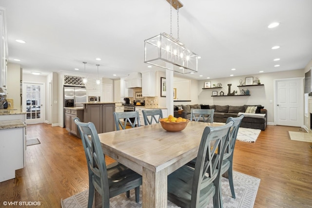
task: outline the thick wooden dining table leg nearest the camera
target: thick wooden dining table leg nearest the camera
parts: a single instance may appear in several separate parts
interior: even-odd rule
[[[142,208],[167,208],[167,169],[143,168]]]

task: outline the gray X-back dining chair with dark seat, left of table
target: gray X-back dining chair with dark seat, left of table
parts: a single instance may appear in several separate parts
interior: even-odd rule
[[[86,154],[89,172],[89,198],[88,208],[92,208],[95,190],[101,195],[102,208],[109,208],[109,199],[135,189],[136,202],[139,202],[140,185],[142,176],[124,165],[117,163],[115,166],[106,166],[105,154],[98,138],[98,132],[93,123],[82,123],[79,118],[74,118],[81,135],[81,140]],[[88,136],[90,135],[91,138]]]

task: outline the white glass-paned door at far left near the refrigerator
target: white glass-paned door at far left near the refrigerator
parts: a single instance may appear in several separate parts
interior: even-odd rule
[[[43,123],[45,113],[44,84],[23,83],[22,108],[26,112],[26,123]]]

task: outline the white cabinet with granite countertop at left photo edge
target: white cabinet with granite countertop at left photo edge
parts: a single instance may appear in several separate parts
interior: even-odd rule
[[[15,178],[26,163],[25,116],[21,109],[0,109],[0,182]]]

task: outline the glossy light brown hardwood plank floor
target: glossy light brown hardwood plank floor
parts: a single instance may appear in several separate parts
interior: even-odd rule
[[[236,142],[234,170],[261,179],[254,208],[312,207],[312,143],[290,140],[288,131],[298,129],[267,126],[255,143]],[[0,208],[9,207],[3,201],[59,208],[61,199],[88,189],[80,139],[48,124],[28,125],[27,137],[39,138],[41,144],[28,146],[26,167],[16,171],[15,179],[0,183]]]

